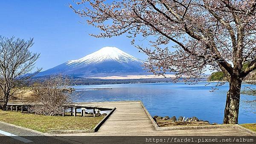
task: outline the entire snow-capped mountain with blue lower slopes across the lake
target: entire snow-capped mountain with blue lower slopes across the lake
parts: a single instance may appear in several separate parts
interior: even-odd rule
[[[143,60],[133,57],[116,47],[103,47],[77,60],[69,60],[36,76],[53,75],[59,72],[81,78],[147,75]]]

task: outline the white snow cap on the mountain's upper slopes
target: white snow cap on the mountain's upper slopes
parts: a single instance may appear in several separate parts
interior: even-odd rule
[[[128,63],[129,61],[137,61],[142,63],[143,60],[134,58],[132,55],[129,55],[126,52],[116,48],[116,47],[103,47],[96,52],[91,53],[90,55],[86,55],[83,58],[78,60],[69,60],[67,65],[77,65],[77,64],[91,64],[91,63],[101,63],[103,61],[114,60],[119,63]]]

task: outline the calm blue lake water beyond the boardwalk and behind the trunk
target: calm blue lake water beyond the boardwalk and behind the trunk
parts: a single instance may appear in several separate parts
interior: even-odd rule
[[[210,92],[216,83],[206,85],[200,82],[196,85],[184,83],[161,84],[109,84],[75,86],[83,89],[79,101],[125,101],[140,100],[148,112],[160,116],[196,116],[199,119],[221,124],[224,116],[228,84],[219,86],[218,90]],[[247,85],[243,85],[247,86]],[[93,90],[93,88],[112,88]],[[252,99],[253,96],[241,95],[242,99]],[[240,103],[239,124],[256,123],[256,114],[248,109],[249,105]]]

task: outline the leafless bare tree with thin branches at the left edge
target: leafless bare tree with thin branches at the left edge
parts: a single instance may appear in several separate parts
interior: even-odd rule
[[[0,36],[0,89],[3,92],[2,109],[6,109],[9,98],[41,69],[32,72],[40,54],[32,53],[33,39]]]

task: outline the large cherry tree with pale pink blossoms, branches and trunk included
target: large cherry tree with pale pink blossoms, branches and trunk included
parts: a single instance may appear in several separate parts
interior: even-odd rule
[[[256,69],[255,0],[82,0],[70,5],[87,23],[102,30],[95,37],[142,36],[150,48],[150,72],[197,81],[209,66],[221,70],[230,89],[224,124],[237,124],[241,83]],[[81,7],[83,6],[83,7]],[[174,46],[173,46],[174,45]],[[171,49],[173,48],[173,49]],[[242,69],[243,63],[249,63]]]

